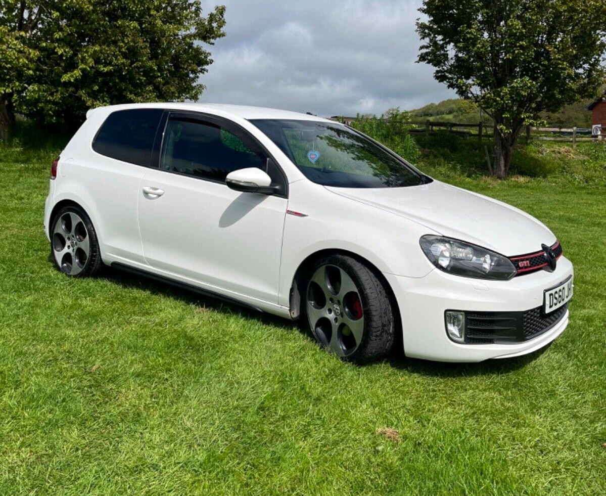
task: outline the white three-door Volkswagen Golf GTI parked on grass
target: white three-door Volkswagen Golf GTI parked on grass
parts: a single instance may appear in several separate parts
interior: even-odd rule
[[[70,276],[104,263],[300,319],[357,363],[395,342],[440,361],[527,354],[564,331],[573,293],[527,213],[282,110],[90,110],[53,163],[44,227]]]

